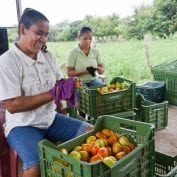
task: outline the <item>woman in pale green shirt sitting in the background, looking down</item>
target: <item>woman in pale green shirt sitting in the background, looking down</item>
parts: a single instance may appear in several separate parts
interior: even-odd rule
[[[67,57],[67,75],[79,77],[87,86],[103,85],[98,74],[104,73],[104,66],[98,49],[91,47],[93,33],[91,28],[82,27],[79,31],[79,44],[70,51]]]

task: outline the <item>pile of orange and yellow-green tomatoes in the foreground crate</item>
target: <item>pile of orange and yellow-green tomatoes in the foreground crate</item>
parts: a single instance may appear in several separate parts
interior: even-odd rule
[[[105,128],[89,136],[84,143],[74,147],[70,152],[65,148],[61,148],[60,151],[88,163],[101,160],[110,167],[134,149],[135,143],[126,136]]]

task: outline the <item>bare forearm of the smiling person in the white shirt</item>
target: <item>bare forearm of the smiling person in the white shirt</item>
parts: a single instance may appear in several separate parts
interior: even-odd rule
[[[31,111],[50,101],[54,97],[49,93],[41,93],[35,96],[19,96],[13,99],[4,100],[4,106],[10,113]]]

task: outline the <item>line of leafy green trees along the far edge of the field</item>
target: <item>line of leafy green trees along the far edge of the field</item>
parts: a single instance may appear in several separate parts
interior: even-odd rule
[[[166,38],[177,31],[177,0],[154,0],[152,5],[141,5],[132,16],[120,18],[116,13],[105,17],[87,15],[83,20],[65,20],[50,26],[49,41],[76,40],[81,26],[92,28],[97,39],[143,39],[149,33],[154,37]],[[14,39],[14,29],[9,39]]]

